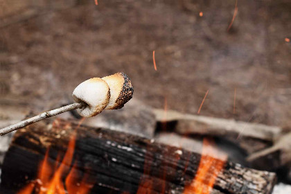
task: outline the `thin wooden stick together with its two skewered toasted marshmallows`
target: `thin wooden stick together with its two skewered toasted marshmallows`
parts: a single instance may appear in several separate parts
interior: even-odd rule
[[[125,73],[115,73],[104,78],[91,78],[82,82],[73,91],[73,100],[76,103],[43,112],[32,118],[20,121],[0,130],[0,135],[26,127],[45,118],[55,116],[73,109],[84,117],[96,116],[103,109],[119,109],[132,98],[133,88],[130,79]]]

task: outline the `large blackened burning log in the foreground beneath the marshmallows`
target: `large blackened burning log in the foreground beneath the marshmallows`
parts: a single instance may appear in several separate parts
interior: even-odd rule
[[[76,141],[70,141],[75,132]],[[208,167],[202,170],[201,164]],[[274,173],[69,121],[42,121],[17,131],[4,159],[1,191],[47,191],[44,185],[48,179],[56,184],[55,177],[67,190],[90,184],[87,193],[187,194],[197,185],[209,193],[271,193],[276,181]]]

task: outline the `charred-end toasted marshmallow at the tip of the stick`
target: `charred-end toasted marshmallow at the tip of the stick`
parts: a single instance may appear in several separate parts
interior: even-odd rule
[[[105,109],[120,109],[132,98],[133,88],[130,78],[125,73],[115,73],[102,78],[110,88],[110,100]]]

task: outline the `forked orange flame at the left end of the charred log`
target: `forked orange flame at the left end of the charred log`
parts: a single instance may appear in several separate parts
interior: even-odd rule
[[[80,120],[78,127],[80,126],[82,121],[84,121],[84,119]],[[58,121],[57,123],[54,124],[58,124]],[[17,194],[89,193],[90,189],[93,186],[93,184],[87,184],[89,175],[86,173],[82,178],[81,182],[79,183],[78,179],[76,178],[78,177],[76,164],[74,164],[71,170],[69,170],[69,166],[71,166],[73,161],[75,145],[76,145],[76,130],[73,132],[71,136],[67,152],[64,154],[62,162],[60,162],[60,155],[58,155],[55,166],[52,166],[51,162],[49,161],[49,149],[46,150],[44,161],[42,161],[42,164],[39,166],[39,173],[37,175],[37,179],[28,184],[23,189],[21,189],[21,191],[19,191],[19,193]],[[60,166],[57,165],[59,163]],[[65,182],[63,182],[64,175],[68,173],[69,175],[67,175]]]

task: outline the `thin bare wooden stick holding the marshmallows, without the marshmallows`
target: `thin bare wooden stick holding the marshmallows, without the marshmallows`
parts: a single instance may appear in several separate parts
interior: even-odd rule
[[[79,109],[79,108],[84,107],[85,105],[86,105],[85,103],[73,103],[71,105],[67,105],[64,107],[57,108],[57,109],[52,109],[47,112],[43,112],[42,114],[38,114],[37,116],[33,116],[32,118],[28,118],[24,121],[20,121],[19,123],[16,123],[14,125],[10,125],[8,127],[1,129],[0,135],[3,136],[4,134],[8,134],[12,131],[19,130],[20,128],[26,127],[27,125],[33,124],[37,121],[42,121],[45,118],[49,118],[51,116],[55,116],[57,114],[61,114],[63,112],[67,112],[73,109]]]

